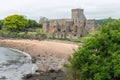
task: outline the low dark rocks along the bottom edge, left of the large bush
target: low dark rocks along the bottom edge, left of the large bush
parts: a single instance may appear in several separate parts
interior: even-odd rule
[[[27,74],[23,80],[66,80],[65,73],[61,70],[48,72],[37,71],[36,74]]]

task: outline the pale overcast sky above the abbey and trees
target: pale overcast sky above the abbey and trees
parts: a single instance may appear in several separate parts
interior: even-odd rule
[[[74,8],[83,8],[88,19],[120,18],[120,0],[0,0],[0,19],[11,14],[35,20],[71,18]]]

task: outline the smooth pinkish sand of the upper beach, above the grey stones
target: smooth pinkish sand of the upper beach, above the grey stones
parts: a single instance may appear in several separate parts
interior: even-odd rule
[[[0,39],[0,46],[24,51],[31,56],[55,55],[66,58],[78,48],[78,44],[55,40]]]

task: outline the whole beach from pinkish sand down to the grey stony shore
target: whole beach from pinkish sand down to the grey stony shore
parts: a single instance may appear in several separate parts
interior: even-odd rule
[[[53,74],[56,74],[56,76],[54,76],[56,79],[63,77],[59,80],[64,80],[65,75],[60,71],[64,71],[64,62],[67,61],[69,55],[78,49],[78,44],[56,40],[0,39],[0,47],[18,49],[31,55],[33,63],[38,67],[37,71],[40,72],[39,75],[34,74],[34,76],[31,75],[31,77],[29,75],[25,80],[48,79],[50,77],[52,79],[53,76],[50,75]],[[51,70],[59,72],[51,74],[51,72],[49,72]],[[41,71],[42,73],[48,72],[48,75],[46,76],[45,73],[44,77],[43,74],[41,76]]]

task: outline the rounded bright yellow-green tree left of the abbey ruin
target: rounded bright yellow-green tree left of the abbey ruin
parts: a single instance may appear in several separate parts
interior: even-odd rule
[[[3,25],[8,30],[18,31],[18,30],[22,30],[23,28],[27,27],[28,21],[24,16],[14,14],[14,15],[7,16],[4,19]]]

